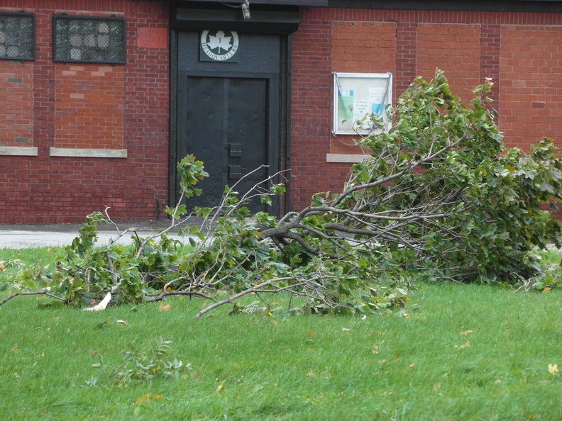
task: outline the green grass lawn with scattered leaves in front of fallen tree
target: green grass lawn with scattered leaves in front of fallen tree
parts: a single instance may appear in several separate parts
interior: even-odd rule
[[[93,313],[18,297],[0,307],[0,419],[562,419],[562,291],[423,284],[409,298],[409,320],[228,316],[228,305],[194,320],[209,302]],[[159,336],[191,364],[177,380],[119,385],[91,367]]]

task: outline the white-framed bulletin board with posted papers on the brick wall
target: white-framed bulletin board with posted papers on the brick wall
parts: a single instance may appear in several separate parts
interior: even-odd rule
[[[365,134],[371,131],[365,115],[381,117],[388,130],[385,108],[392,101],[391,73],[334,72],[334,134]]]

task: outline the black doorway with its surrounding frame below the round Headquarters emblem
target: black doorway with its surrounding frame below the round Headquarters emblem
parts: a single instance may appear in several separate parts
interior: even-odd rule
[[[236,185],[241,197],[286,167],[287,37],[238,33],[237,61],[209,62],[200,60],[203,33],[172,38],[170,204],[180,197],[175,165],[184,156],[195,155],[210,174],[202,196],[185,201],[189,210],[219,205],[224,186]],[[275,198],[272,206],[253,198],[248,207],[279,213]]]

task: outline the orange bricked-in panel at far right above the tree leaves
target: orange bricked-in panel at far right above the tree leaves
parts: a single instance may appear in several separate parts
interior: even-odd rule
[[[506,143],[528,149],[541,137],[562,147],[562,28],[501,30],[500,127]]]

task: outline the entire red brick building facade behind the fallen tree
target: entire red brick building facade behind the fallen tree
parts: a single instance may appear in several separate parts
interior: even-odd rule
[[[306,206],[317,191],[338,191],[358,159],[350,135],[332,134],[333,72],[390,72],[394,98],[436,67],[465,100],[491,77],[508,147],[528,150],[542,136],[556,141],[562,2],[464,3],[412,10],[400,1],[388,9],[376,1],[256,0],[252,26],[253,18],[232,23],[224,13],[234,12],[215,1],[3,1],[0,18],[33,16],[35,57],[0,60],[0,223],[79,222],[106,206],[116,220],[162,218],[174,198],[174,162],[192,153],[196,122],[189,118],[214,112],[206,98],[213,89],[227,104],[222,118],[244,118],[236,114],[244,106],[237,92],[268,101],[267,121],[249,119],[265,130],[265,163],[294,176],[280,213]],[[199,18],[207,9],[219,17]],[[278,26],[268,21],[285,11]],[[53,16],[123,18],[123,64],[54,61]],[[221,28],[220,16],[225,30],[241,33],[240,58],[206,64],[194,44],[205,25]],[[201,107],[192,107],[192,94]],[[224,130],[234,139],[230,125]],[[199,145],[219,132],[194,135]],[[243,142],[224,145],[216,167],[225,163],[225,177],[246,165],[228,161],[246,153],[234,152]]]

